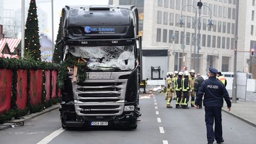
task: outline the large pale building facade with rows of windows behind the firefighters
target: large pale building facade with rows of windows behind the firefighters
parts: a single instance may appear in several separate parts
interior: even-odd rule
[[[122,1],[111,0],[110,2],[113,5],[119,5]],[[202,0],[200,18],[197,2],[196,0],[145,1],[142,47],[169,47],[169,71],[180,71],[185,68],[197,70],[198,60],[198,71],[202,75],[206,75],[210,66],[222,72],[233,72],[236,0]],[[256,25],[254,19],[251,20],[252,14],[254,15],[252,11],[255,9],[252,2],[254,0],[239,3],[238,71],[249,69],[247,52],[250,45],[254,46]],[[180,18],[184,23],[182,27]],[[208,26],[209,18],[213,20],[211,28]],[[247,23],[248,20],[250,23]],[[195,27],[197,28],[196,36]],[[252,35],[251,31],[253,31]],[[196,49],[194,47],[197,43],[199,43],[199,56],[197,55],[198,46]]]

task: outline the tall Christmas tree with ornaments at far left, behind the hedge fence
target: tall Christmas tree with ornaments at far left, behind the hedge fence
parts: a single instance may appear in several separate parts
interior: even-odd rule
[[[25,24],[24,57],[41,61],[38,23],[36,0],[31,0],[30,8],[28,9],[27,22]]]

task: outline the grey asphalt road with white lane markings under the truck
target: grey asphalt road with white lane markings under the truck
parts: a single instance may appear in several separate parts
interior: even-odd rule
[[[164,95],[142,97],[140,107],[142,117],[136,130],[64,130],[59,111],[55,110],[36,117],[23,127],[0,131],[0,143],[207,143],[204,109],[167,109]],[[225,144],[256,143],[255,127],[226,113],[222,113],[222,121]]]

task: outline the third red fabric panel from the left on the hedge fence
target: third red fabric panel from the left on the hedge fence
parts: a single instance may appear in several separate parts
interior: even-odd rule
[[[42,99],[43,71],[30,70],[30,103],[38,105]]]

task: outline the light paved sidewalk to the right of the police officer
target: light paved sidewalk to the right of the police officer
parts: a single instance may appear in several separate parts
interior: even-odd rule
[[[256,102],[237,101],[237,103],[232,103],[231,111],[228,112],[226,105],[222,111],[256,127]]]

